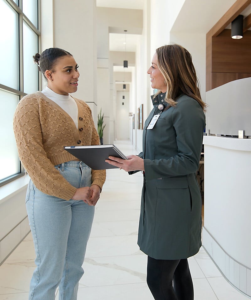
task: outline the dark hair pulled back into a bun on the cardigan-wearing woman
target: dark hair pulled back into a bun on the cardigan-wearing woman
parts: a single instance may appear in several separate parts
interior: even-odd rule
[[[57,60],[65,55],[72,56],[72,54],[66,50],[60,48],[49,48],[45,49],[41,54],[37,53],[33,55],[33,60],[34,63],[37,64],[38,70],[42,72],[45,79],[47,80],[45,71],[51,70],[53,72],[53,67],[56,64]]]

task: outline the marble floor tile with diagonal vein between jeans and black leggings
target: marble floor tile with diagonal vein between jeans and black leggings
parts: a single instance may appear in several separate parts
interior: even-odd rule
[[[80,287],[146,282],[147,256],[127,255],[86,258]]]

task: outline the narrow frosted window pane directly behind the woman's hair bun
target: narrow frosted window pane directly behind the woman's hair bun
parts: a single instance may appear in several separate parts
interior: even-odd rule
[[[25,22],[23,23],[23,40],[24,92],[30,94],[38,91],[38,69],[32,58],[38,52],[38,36]]]

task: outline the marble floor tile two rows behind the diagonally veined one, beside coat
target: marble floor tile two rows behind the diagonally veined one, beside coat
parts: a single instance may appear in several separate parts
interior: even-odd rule
[[[138,220],[93,222],[90,237],[137,235],[138,224],[139,224]]]

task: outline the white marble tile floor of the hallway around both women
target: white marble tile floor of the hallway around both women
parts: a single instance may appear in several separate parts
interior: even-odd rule
[[[129,142],[115,144],[125,155],[137,154]],[[141,173],[129,176],[123,170],[107,170],[96,205],[78,300],[153,299],[146,284],[147,256],[137,246],[141,187]],[[29,234],[0,266],[0,300],[28,299],[34,258]],[[203,248],[189,258],[189,264],[195,300],[250,299],[222,277]]]

